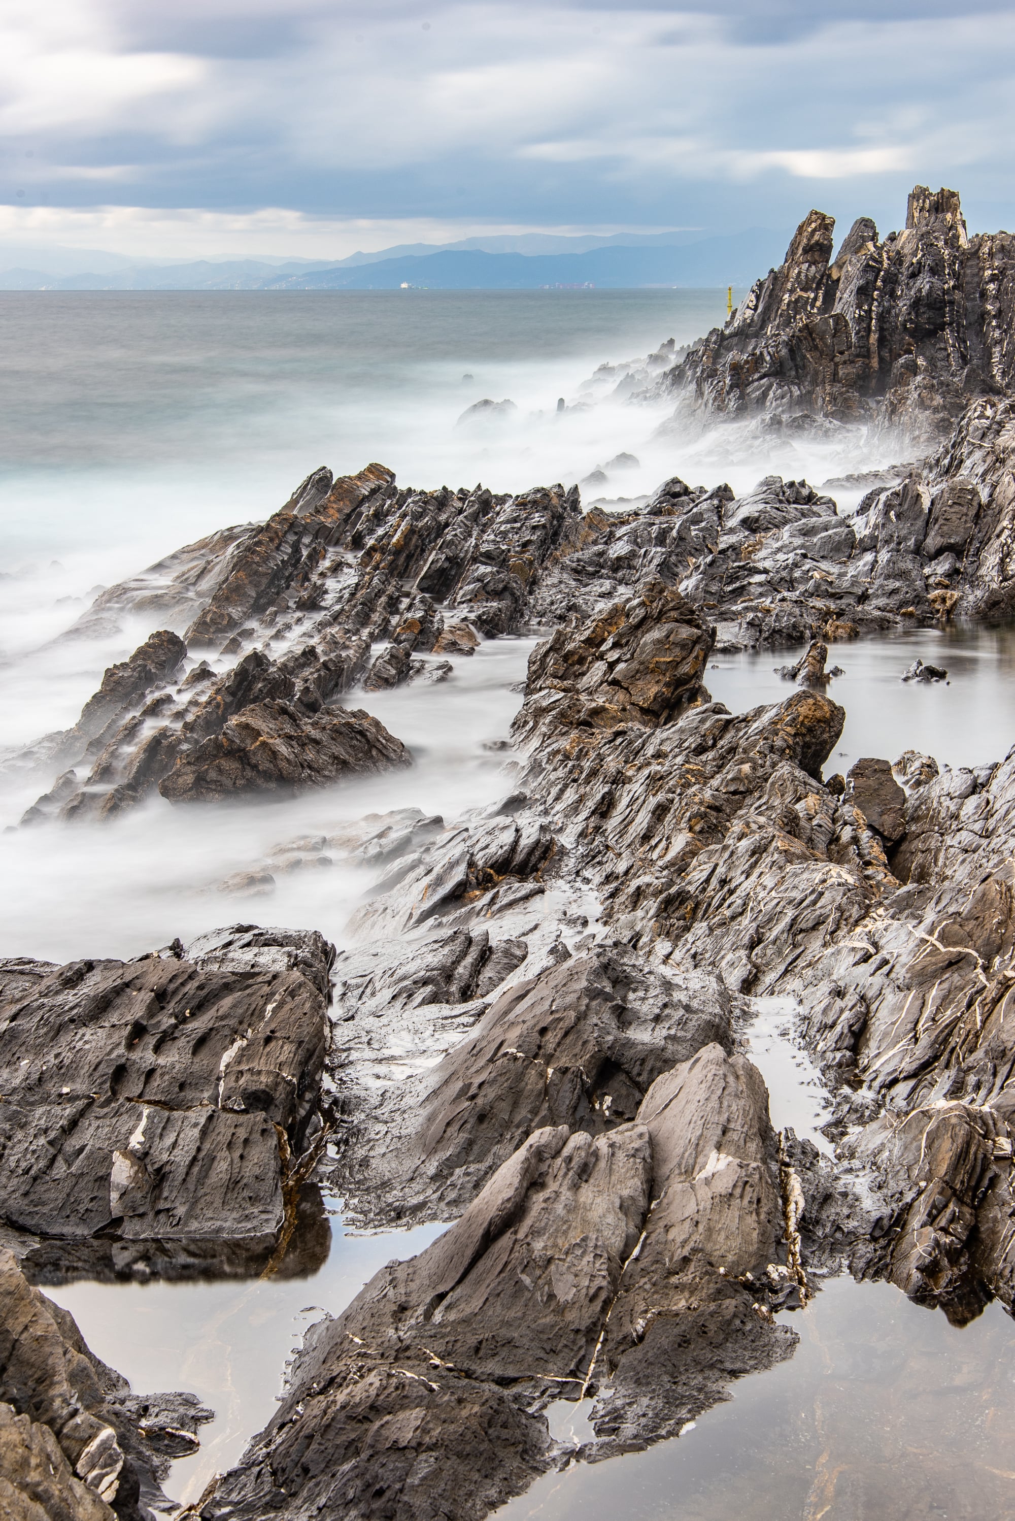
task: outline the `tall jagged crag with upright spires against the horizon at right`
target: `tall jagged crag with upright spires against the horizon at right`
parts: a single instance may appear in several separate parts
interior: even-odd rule
[[[906,228],[878,242],[858,218],[810,211],[786,262],[661,385],[687,412],[874,421],[938,441],[971,397],[1015,383],[1015,240],[969,239],[954,190],[918,186]]]

